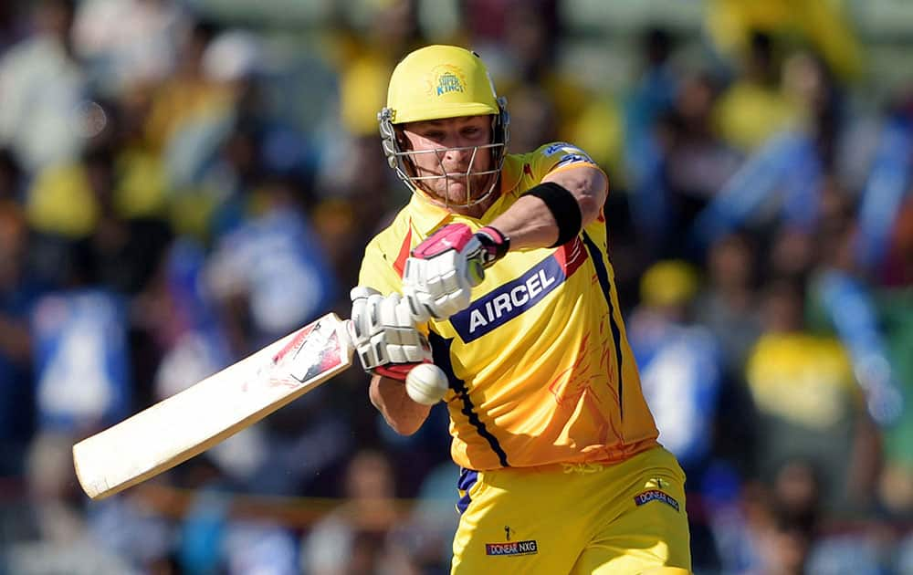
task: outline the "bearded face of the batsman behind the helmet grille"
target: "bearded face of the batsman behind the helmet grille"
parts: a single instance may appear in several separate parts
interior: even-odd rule
[[[416,121],[404,125],[409,158],[427,193],[448,204],[465,204],[488,192],[492,174],[491,116],[465,116]],[[469,175],[467,175],[469,174]],[[446,176],[446,177],[443,177]]]

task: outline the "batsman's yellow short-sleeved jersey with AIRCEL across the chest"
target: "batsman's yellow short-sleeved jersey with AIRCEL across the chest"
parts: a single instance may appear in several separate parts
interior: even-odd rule
[[[384,295],[401,291],[411,249],[436,229],[488,225],[547,173],[580,165],[595,164],[564,142],[509,154],[498,200],[481,218],[451,214],[413,194],[366,247],[359,284]],[[435,363],[449,379],[445,401],[457,465],[615,462],[656,446],[603,214],[564,246],[509,252],[485,270],[468,308],[426,328]]]

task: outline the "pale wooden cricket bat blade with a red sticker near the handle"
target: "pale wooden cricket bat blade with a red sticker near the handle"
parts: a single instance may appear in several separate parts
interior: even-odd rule
[[[352,352],[327,314],[73,445],[79,484],[101,499],[181,464],[346,370]]]

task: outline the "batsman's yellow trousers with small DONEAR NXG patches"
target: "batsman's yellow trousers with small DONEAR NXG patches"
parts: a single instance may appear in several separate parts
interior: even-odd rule
[[[690,570],[685,474],[662,447],[611,465],[473,473],[461,478],[454,575]]]

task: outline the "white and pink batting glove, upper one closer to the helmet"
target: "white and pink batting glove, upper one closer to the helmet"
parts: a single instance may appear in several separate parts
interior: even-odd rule
[[[507,254],[510,240],[486,226],[475,234],[466,224],[445,225],[406,259],[403,295],[416,321],[446,319],[468,307],[485,268]]]

